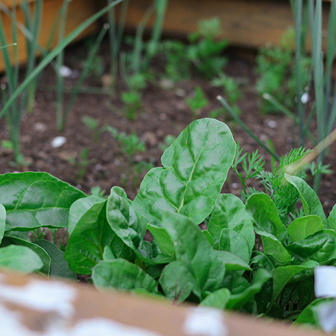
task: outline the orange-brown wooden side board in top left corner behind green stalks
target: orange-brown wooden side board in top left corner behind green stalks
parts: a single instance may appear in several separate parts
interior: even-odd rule
[[[6,3],[7,5],[10,5],[12,1],[2,1],[2,3]],[[38,38],[38,43],[41,47],[45,47],[47,45],[47,41],[49,40],[49,36],[51,34],[51,29],[53,27],[53,23],[55,22],[56,16],[62,6],[63,0],[45,0],[43,1],[43,19],[40,27],[40,35]],[[30,3],[30,6],[34,6],[34,1]],[[68,8],[68,15],[67,15],[67,24],[66,24],[66,30],[65,34],[69,34],[70,32],[75,29],[80,23],[88,19],[89,16],[97,12],[97,1],[95,0],[72,0],[69,3]],[[24,23],[23,18],[23,12],[20,10],[20,7],[17,6],[16,8],[16,15],[17,20],[21,23]],[[12,23],[10,17],[5,15],[1,11],[1,19],[3,21],[3,27],[5,30],[5,37],[7,40],[7,43],[13,43],[12,40]],[[94,25],[91,25],[86,29],[80,36],[77,37],[77,40],[87,36],[88,34],[93,34],[93,32],[97,31],[97,23]],[[56,34],[57,35],[57,34]],[[26,43],[25,43],[25,36],[23,35],[20,30],[18,30],[18,52],[19,52],[19,64],[23,64],[26,61]],[[57,38],[53,41],[53,47],[57,44]],[[12,61],[14,62],[14,50],[13,47],[9,47],[8,51],[10,52],[10,55],[12,57]],[[5,65],[3,62],[3,56],[0,52],[0,71],[3,71],[5,69]]]

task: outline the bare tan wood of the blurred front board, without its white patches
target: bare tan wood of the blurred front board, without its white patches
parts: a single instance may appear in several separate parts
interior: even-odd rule
[[[60,282],[59,280],[47,280],[37,276],[23,276],[21,274],[6,272],[3,269],[0,272],[0,291],[5,291],[8,285],[12,288],[17,287],[20,289],[20,287],[25,287],[27,284],[36,280],[51,285]],[[169,302],[164,300],[154,300],[107,290],[99,293],[93,286],[77,285],[75,283],[63,284],[73,288],[75,291],[75,299],[72,301],[73,314],[64,317],[64,320],[61,321],[62,323],[60,323],[60,317],[55,313],[45,313],[34,308],[29,308],[27,302],[25,304],[11,302],[8,296],[6,300],[3,300],[0,295],[0,307],[14,312],[20,317],[22,324],[38,332],[43,332],[43,326],[46,324],[43,322],[47,322],[49,326],[53,324],[56,326],[73,326],[81,320],[101,317],[127,326],[134,326],[146,331],[155,332],[160,336],[196,335],[195,332],[188,334],[184,328],[184,322],[194,309],[194,307],[190,305],[184,304],[176,307],[176,305],[169,304]],[[325,335],[311,329],[290,327],[288,323],[270,322],[269,320],[263,320],[263,318],[256,319],[238,313],[219,312],[219,316],[217,317],[224,320],[224,324],[227,328],[226,336]],[[197,335],[204,335],[204,333]]]

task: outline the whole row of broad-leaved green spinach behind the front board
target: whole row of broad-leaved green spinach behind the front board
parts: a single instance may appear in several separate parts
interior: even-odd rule
[[[147,173],[134,201],[120,187],[106,199],[47,173],[2,175],[0,265],[47,276],[92,274],[98,288],[307,321],[316,304],[313,269],[336,262],[336,206],[326,217],[309,184],[284,171],[275,176],[302,203],[287,221],[272,194],[254,191],[241,200],[221,193],[239,161],[236,150],[224,123],[194,121],[165,150],[162,167]],[[283,162],[302,155],[298,149]],[[258,160],[250,156],[249,174]],[[19,238],[40,227],[67,228],[64,258],[49,242]]]

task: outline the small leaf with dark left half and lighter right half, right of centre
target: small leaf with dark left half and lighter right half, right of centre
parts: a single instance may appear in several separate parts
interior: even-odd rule
[[[246,264],[250,263],[251,251],[243,236],[234,230],[224,228],[221,230],[218,250],[227,251],[238,256]]]

